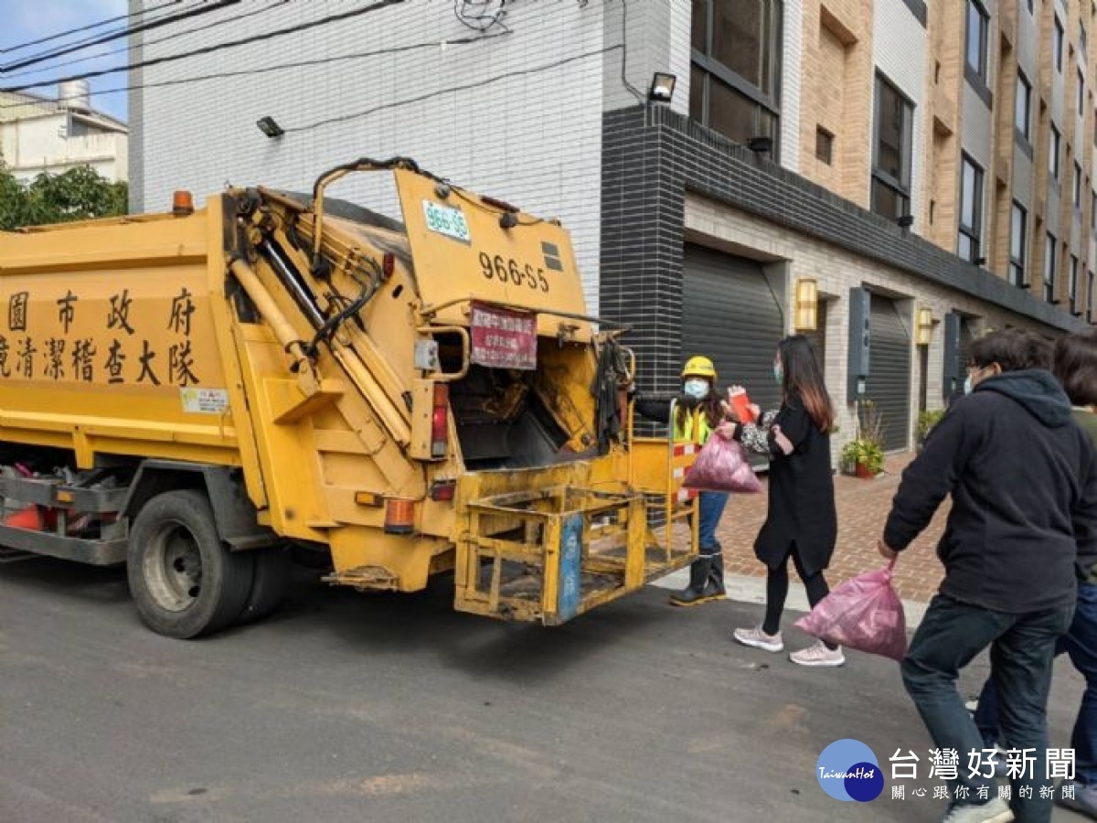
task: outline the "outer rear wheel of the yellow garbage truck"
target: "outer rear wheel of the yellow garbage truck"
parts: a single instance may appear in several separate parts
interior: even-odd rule
[[[239,617],[255,557],[222,543],[203,493],[180,489],[157,495],[137,512],[126,574],[142,621],[159,634],[189,639]]]

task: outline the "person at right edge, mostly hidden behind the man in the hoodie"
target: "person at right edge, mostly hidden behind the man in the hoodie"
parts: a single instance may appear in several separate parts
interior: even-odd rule
[[[1071,401],[1074,421],[1097,446],[1097,329],[1059,338],[1053,371]],[[1094,571],[1078,583],[1074,620],[1055,651],[1070,655],[1086,678],[1082,707],[1071,734],[1076,776],[1070,792],[1059,792],[1055,802],[1097,820],[1097,573]],[[1000,730],[998,691],[993,676],[983,686],[974,719],[983,735],[983,747],[995,748]],[[1005,763],[1000,771],[1005,776]]]

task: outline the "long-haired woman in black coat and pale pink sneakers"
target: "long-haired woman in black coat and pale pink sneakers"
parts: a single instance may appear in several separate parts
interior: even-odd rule
[[[807,589],[812,607],[829,594],[823,571],[830,564],[838,537],[830,467],[834,407],[811,341],[787,337],[777,347],[773,377],[781,384],[777,413],[762,426],[746,424],[737,432],[744,444],[770,459],[766,522],[755,540],[755,555],[769,570],[766,617],[753,629],[736,629],[735,640],[767,652],[784,649],[781,613],[789,594],[789,559]],[[804,666],[840,666],[841,649],[815,643],[789,655]]]

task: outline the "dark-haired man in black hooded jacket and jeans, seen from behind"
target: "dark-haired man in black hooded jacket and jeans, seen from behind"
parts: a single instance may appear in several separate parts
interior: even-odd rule
[[[976,340],[971,358],[972,392],[903,472],[879,549],[894,559],[951,494],[937,549],[945,580],[902,663],[903,683],[936,748],[961,760],[947,823],[1013,815],[1043,823],[1052,811],[1045,765],[1052,659],[1074,615],[1077,571],[1097,559],[1097,458],[1047,369],[1045,341],[1007,329]],[[1034,755],[1014,781],[1011,810],[994,796],[993,758],[982,757],[982,739],[957,689],[960,669],[987,646],[1004,742]]]

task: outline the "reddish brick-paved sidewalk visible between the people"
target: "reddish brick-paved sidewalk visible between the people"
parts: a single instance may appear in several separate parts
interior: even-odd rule
[[[838,508],[838,544],[827,573],[832,587],[853,575],[878,568],[883,560],[877,552],[877,539],[883,532],[892,497],[898,488],[900,474],[914,453],[892,455],[884,472],[873,480],[836,475],[835,503]],[[766,480],[762,475],[762,486]],[[728,576],[766,576],[765,566],[754,555],[754,540],[766,519],[766,495],[732,495],[720,525],[724,564]],[[904,600],[928,601],[937,591],[943,570],[937,560],[937,541],[945,531],[949,501],[941,504],[929,528],[900,555],[895,565],[895,588]],[[791,571],[792,578],[795,573]]]

